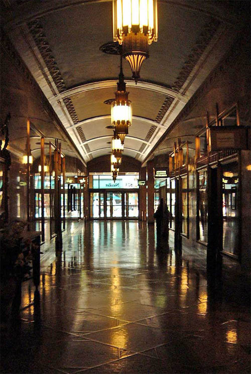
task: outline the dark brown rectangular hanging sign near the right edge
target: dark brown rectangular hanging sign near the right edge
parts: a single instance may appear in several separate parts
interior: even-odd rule
[[[211,127],[209,129],[210,151],[224,149],[247,149],[247,130],[245,127]]]

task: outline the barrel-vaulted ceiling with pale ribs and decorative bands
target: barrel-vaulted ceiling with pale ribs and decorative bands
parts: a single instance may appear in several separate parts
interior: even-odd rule
[[[235,4],[234,4],[235,3]],[[214,69],[241,25],[237,3],[162,0],[159,39],[136,85],[123,61],[133,124],[124,155],[144,163]],[[112,2],[3,0],[2,26],[87,163],[110,152],[110,107],[119,56],[112,41]]]

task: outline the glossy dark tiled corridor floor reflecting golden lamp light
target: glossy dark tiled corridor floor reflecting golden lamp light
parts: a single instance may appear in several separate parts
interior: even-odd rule
[[[69,222],[2,323],[3,373],[249,373],[248,287],[137,221]],[[225,276],[226,272],[226,276]],[[229,276],[230,274],[230,276]]]

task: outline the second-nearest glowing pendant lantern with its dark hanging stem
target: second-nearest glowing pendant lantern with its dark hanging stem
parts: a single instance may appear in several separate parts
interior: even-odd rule
[[[121,144],[124,143],[128,128],[132,124],[132,107],[128,94],[122,70],[122,57],[120,55],[120,72],[115,98],[108,99],[104,103],[111,105],[111,125],[115,129],[114,134],[119,137]]]

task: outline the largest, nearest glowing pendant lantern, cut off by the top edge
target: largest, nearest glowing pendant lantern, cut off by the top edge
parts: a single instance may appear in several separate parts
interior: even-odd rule
[[[157,40],[157,0],[113,0],[113,42],[122,45],[136,84],[149,57],[149,45]]]

